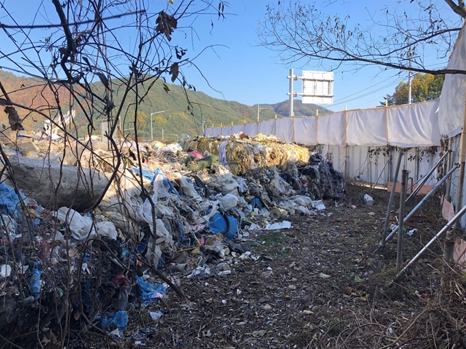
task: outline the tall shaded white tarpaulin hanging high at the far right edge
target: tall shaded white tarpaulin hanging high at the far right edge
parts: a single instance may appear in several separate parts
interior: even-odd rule
[[[466,70],[466,34],[461,29],[447,69]],[[465,116],[466,75],[447,74],[443,82],[439,103],[439,129],[441,135],[452,138],[461,133]]]

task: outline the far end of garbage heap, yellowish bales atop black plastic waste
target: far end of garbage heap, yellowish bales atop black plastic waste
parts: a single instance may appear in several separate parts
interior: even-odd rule
[[[317,199],[344,196],[343,175],[322,159],[317,147],[310,150],[284,143],[275,135],[259,134],[249,138],[238,133],[228,137],[187,138],[183,148],[218,155],[220,164],[232,174],[243,176],[248,183],[263,185],[272,201],[295,194]],[[281,189],[285,192],[279,193]]]

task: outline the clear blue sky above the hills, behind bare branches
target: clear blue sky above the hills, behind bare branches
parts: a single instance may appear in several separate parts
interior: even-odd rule
[[[34,6],[25,6],[27,1],[0,1],[5,3],[8,10],[16,14],[21,24],[32,23],[39,3],[35,3]],[[265,21],[266,6],[276,1],[231,0],[229,7],[225,8],[227,12],[225,19],[219,20],[216,15],[199,16],[193,23],[195,28],[193,38],[188,35],[185,39],[184,33],[179,33],[177,36],[178,33],[175,31],[173,41],[180,42],[183,47],[190,50],[190,53],[199,53],[209,45],[219,45],[208,49],[195,61],[208,82],[197,69],[191,67],[184,68],[188,83],[193,84],[197,90],[227,101],[238,101],[247,105],[278,103],[288,99],[286,93],[289,89],[289,81],[286,76],[289,74],[289,68],[294,68],[297,75],[302,69],[322,70],[319,62],[306,66],[286,66],[280,62],[275,52],[258,46],[257,31],[260,23]],[[301,2],[311,3],[310,1]],[[373,23],[371,18],[375,21],[382,18],[380,10],[384,4],[391,10],[396,10],[397,13],[402,13],[406,8],[408,15],[413,17],[416,16],[415,11],[418,9],[416,1],[410,3],[409,0],[387,0],[383,3],[367,0],[330,2],[332,2],[331,5],[326,5],[329,0],[316,1],[321,5],[322,12],[330,15],[338,14],[341,18],[349,15],[353,24],[359,23],[363,27]],[[443,0],[437,2],[441,4]],[[36,23],[47,23],[40,16],[47,16],[49,21],[58,23],[58,17],[50,1],[45,0],[43,3],[45,10],[40,12]],[[177,0],[174,0],[174,3],[176,5]],[[166,5],[164,0],[151,1],[151,7],[156,11],[162,10]],[[443,7],[446,6],[443,4]],[[158,7],[160,9],[157,9]],[[445,16],[456,17],[448,8],[444,13]],[[4,17],[0,18],[0,21],[7,22]],[[210,25],[211,21],[214,23],[213,29]],[[46,31],[38,31],[36,34],[44,38]],[[130,44],[131,35],[123,40],[127,40]],[[5,40],[0,34],[0,47],[4,44]],[[447,64],[446,60],[437,59],[435,52],[425,52],[424,59],[426,65],[432,68],[442,68]],[[7,65],[0,59],[0,66]],[[386,70],[378,66],[362,68],[356,72],[353,68],[354,66],[351,65],[343,65],[334,71],[334,104],[324,105],[325,107],[334,111],[343,110],[345,105],[348,109],[376,107],[386,94],[392,94],[395,86],[402,80],[406,81],[408,76],[407,72],[400,73],[400,70]],[[302,92],[299,81],[295,82],[295,91]]]

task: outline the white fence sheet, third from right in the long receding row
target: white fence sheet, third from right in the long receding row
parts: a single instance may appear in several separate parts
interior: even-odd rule
[[[319,116],[317,141],[319,144],[343,146],[345,140],[345,112]]]

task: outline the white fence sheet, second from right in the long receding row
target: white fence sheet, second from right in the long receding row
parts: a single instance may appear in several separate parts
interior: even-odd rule
[[[354,110],[347,112],[347,145],[387,145],[385,108]]]

